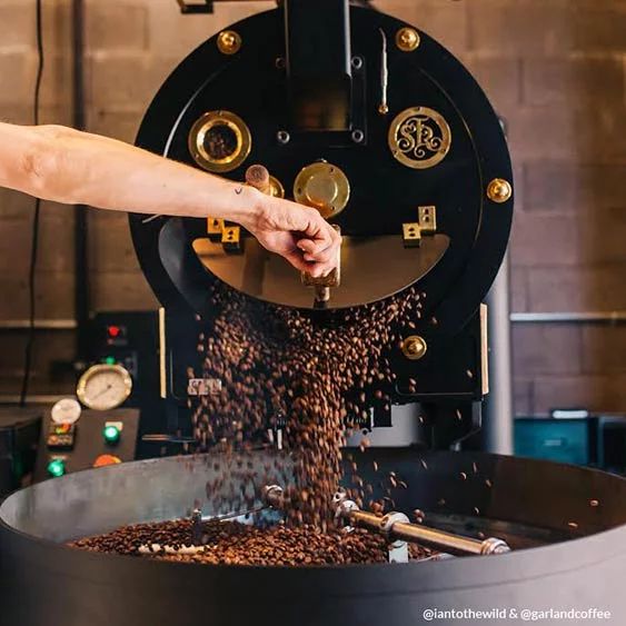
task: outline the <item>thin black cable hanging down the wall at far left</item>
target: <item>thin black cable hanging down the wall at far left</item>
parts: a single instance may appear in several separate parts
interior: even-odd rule
[[[41,17],[42,0],[36,0],[36,32],[37,32],[37,78],[34,81],[34,97],[32,103],[32,118],[34,126],[39,125],[39,100],[41,93],[41,79],[43,77],[43,29]],[[24,369],[22,376],[22,388],[20,393],[20,406],[26,405],[28,386],[30,382],[30,371],[32,368],[32,348],[34,344],[34,316],[36,316],[36,272],[37,272],[37,251],[39,248],[39,216],[41,212],[41,200],[34,200],[34,215],[32,217],[31,244],[30,244],[30,266],[28,271],[28,297],[29,297],[29,327],[24,349]]]

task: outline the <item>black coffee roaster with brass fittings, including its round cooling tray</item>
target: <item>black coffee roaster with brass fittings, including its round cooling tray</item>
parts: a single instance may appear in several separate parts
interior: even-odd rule
[[[192,52],[155,98],[138,143],[233,180],[262,165],[265,191],[315,206],[344,237],[340,284],[310,289],[235,225],[131,217],[139,260],[163,304],[168,428],[156,439],[185,443],[188,395],[217,384],[190,384],[187,374],[198,359],[198,334],[215,317],[208,295],[216,281],[298,307],[318,324],[337,308],[417,285],[421,308],[397,329],[403,340],[391,357],[394,405],[405,408],[375,411],[364,427],[375,439],[399,421],[419,423],[411,413],[418,406],[424,420],[362,454],[406,479],[408,488],[394,494],[398,511],[419,508],[428,525],[465,536],[466,545],[498,537],[511,552],[291,569],[185,565],[61,545],[190,515],[193,506],[223,513],[206,500],[205,485],[215,478],[207,457],[160,458],[49,480],[2,504],[2,618],[24,626],[408,625],[427,609],[491,608],[510,612],[511,622],[515,612],[550,608],[624,618],[626,480],[447,449],[463,447],[479,426],[488,387],[481,302],[513,211],[498,118],[447,50],[346,0],[285,0]],[[324,298],[315,296],[320,291]],[[271,453],[256,454],[264,464]],[[394,538],[394,525],[384,526],[379,531]]]

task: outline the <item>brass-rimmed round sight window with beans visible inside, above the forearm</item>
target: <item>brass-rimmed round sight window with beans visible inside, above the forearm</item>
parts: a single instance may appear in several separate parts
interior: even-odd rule
[[[208,171],[222,173],[237,169],[250,153],[252,136],[246,122],[230,111],[209,111],[189,132],[189,151]]]

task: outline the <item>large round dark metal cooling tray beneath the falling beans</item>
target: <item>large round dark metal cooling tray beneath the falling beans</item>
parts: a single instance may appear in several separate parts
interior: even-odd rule
[[[137,461],[51,479],[2,504],[1,623],[408,626],[421,623],[427,608],[494,607],[596,607],[616,623],[626,615],[626,479],[485,454],[426,453],[427,468],[415,453],[371,454],[407,480],[396,497],[399,509],[419,506],[438,526],[505,537],[514,552],[389,566],[259,568],[63,546],[120,524],[185,515],[212,466],[202,456]]]

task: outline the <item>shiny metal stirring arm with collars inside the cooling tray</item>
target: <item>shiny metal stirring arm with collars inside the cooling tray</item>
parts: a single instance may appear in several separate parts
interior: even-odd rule
[[[285,507],[284,491],[278,485],[267,486],[264,489],[264,499],[269,506],[275,508],[282,509]],[[332,505],[335,506],[337,518],[342,519],[350,526],[382,534],[390,541],[400,540],[420,544],[425,547],[456,556],[498,555],[510,552],[506,541],[495,537],[480,541],[427,526],[410,524],[408,517],[403,513],[388,513],[379,517],[372,513],[360,510],[358,505],[348,499],[342,491],[335,494]]]

